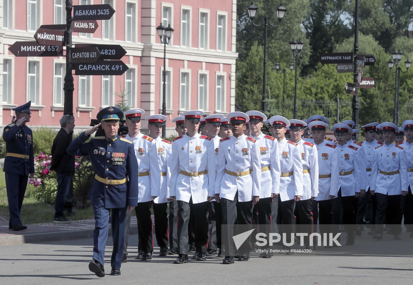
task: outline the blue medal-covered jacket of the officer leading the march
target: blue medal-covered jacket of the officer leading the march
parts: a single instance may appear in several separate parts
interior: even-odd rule
[[[89,199],[105,208],[124,208],[138,205],[138,160],[131,141],[117,134],[112,139],[93,137],[83,132],[67,147],[71,155],[89,155],[93,170],[103,179],[122,180],[123,184],[106,184],[95,179]],[[123,160],[124,159],[124,160]]]

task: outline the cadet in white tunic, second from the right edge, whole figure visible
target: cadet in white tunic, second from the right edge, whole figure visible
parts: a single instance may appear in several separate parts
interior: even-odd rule
[[[380,124],[385,144],[377,147],[373,156],[370,189],[377,197],[376,232],[373,238],[383,238],[383,224],[389,225],[394,239],[401,238],[401,195],[407,195],[407,157],[404,148],[393,143],[397,125],[392,122]],[[387,214],[386,214],[387,212]]]

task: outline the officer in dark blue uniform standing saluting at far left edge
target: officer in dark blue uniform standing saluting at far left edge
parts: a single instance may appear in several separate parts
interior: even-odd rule
[[[7,155],[4,168],[9,203],[9,230],[25,230],[21,224],[20,210],[26,192],[27,178],[34,176],[33,134],[29,127],[31,101],[12,109],[16,112],[16,123],[5,126],[3,139],[6,142]]]

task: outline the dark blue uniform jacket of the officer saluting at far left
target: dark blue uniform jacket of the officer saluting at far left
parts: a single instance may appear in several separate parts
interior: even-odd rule
[[[28,176],[34,173],[33,133],[26,125],[10,124],[3,129],[7,154],[4,160],[4,172]],[[13,155],[26,155],[26,158]]]

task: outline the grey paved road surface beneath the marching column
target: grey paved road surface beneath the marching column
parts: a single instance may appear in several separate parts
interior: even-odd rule
[[[0,246],[1,284],[409,284],[413,283],[413,238],[385,236],[373,241],[366,232],[356,245],[311,254],[252,257],[247,262],[221,264],[221,257],[173,264],[176,255],[152,261],[128,259],[121,276],[98,278],[88,271],[93,240],[63,240],[41,244]],[[387,241],[386,241],[387,240]],[[137,236],[129,239],[130,256],[137,254]],[[106,271],[110,272],[108,241]],[[385,247],[385,248],[384,248]],[[155,249],[157,255],[158,248]],[[142,282],[142,281],[143,282]]]

